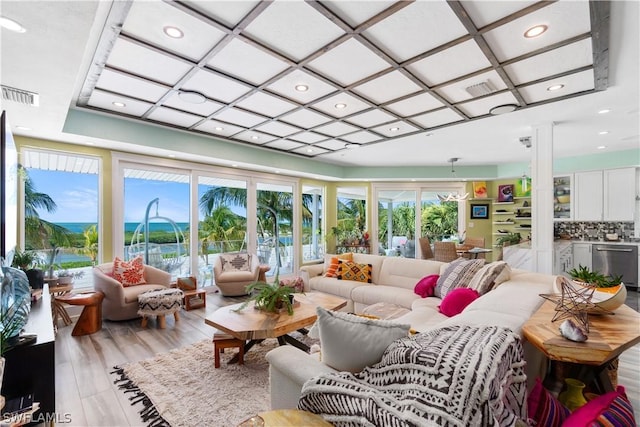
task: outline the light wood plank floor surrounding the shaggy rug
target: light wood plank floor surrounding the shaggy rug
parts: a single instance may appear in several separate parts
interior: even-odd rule
[[[627,300],[636,310],[639,296],[630,293]],[[127,397],[113,384],[114,376],[109,374],[113,366],[210,339],[214,329],[204,324],[204,317],[223,305],[239,301],[209,293],[206,310],[182,311],[178,322],[168,316],[166,329],[157,329],[155,321],[146,329],[140,327],[140,320],[105,321],[98,333],[72,337],[73,325],[60,327],[56,338],[58,417],[69,414],[71,422],[66,424],[69,426],[143,425]],[[74,308],[78,307],[69,307],[69,311]],[[636,419],[640,419],[640,344],[620,357],[618,382],[625,386]]]

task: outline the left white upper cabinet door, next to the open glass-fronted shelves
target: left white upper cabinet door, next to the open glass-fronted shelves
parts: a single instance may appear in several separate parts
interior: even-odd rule
[[[574,174],[575,221],[602,221],[604,188],[602,171],[576,172]]]

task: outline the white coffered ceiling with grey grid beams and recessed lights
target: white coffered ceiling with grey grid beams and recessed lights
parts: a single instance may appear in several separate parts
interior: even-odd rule
[[[5,3],[3,15],[31,19]],[[634,3],[95,4],[82,57],[64,69],[67,106],[346,165],[522,161],[518,140],[541,122],[556,123],[559,156],[637,148]],[[526,37],[536,25],[546,31]],[[29,90],[4,48],[3,85]],[[499,106],[515,112],[492,115]]]

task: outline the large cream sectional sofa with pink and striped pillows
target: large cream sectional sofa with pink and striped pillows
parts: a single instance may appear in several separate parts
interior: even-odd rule
[[[328,255],[325,264],[328,264]],[[553,291],[556,276],[512,270],[510,278],[482,295],[457,316],[440,313],[440,298],[421,298],[413,292],[421,278],[444,272],[448,264],[420,259],[354,254],[354,262],[372,264],[373,283],[360,283],[323,277],[325,265],[303,267],[309,274],[310,291],[338,295],[349,301],[346,311],[362,312],[367,306],[387,302],[411,309],[394,319],[410,324],[418,332],[439,326],[468,324],[504,326],[522,337],[522,325],[537,311],[544,299],[541,293]],[[527,382],[531,389],[536,377],[546,370],[546,359],[532,345],[523,342],[527,361]],[[319,354],[307,354],[292,346],[278,347],[267,354],[272,409],[296,408],[303,384],[314,376],[335,370],[319,360]]]

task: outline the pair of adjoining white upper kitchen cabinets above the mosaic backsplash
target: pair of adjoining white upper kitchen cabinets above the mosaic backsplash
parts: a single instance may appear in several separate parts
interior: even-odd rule
[[[636,197],[635,168],[576,172],[575,221],[633,221]]]

